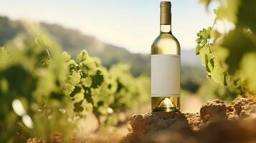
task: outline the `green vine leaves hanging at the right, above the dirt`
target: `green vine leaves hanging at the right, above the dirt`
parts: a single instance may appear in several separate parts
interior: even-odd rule
[[[206,7],[214,0],[201,1]],[[228,21],[235,28],[224,33],[214,29],[214,24],[197,34],[196,54],[207,69],[207,77],[227,86],[236,94],[256,94],[256,1],[217,1],[214,24]]]

